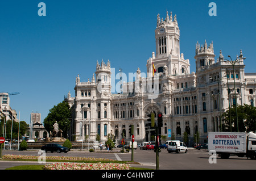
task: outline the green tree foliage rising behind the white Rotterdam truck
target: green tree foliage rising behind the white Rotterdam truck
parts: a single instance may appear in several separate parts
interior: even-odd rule
[[[224,117],[224,124],[222,124],[222,131],[225,132],[237,132],[237,119],[236,108],[233,106],[229,110],[225,111],[222,115]],[[231,130],[230,130],[230,118],[231,117]],[[238,117],[238,129],[239,132],[250,132],[256,130],[256,107],[244,104],[243,106],[237,106]]]

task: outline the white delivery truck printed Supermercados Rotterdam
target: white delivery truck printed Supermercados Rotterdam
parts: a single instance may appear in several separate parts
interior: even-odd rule
[[[230,154],[238,157],[256,158],[256,134],[240,132],[209,132],[208,150],[216,151],[221,158]]]

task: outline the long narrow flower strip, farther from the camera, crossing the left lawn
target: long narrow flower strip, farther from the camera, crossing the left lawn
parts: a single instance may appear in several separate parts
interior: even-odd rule
[[[38,159],[40,156],[32,155],[11,155],[5,154],[2,159]],[[41,156],[42,157],[42,156]],[[60,159],[69,161],[114,161],[114,159],[108,158],[94,158],[94,157],[59,157],[59,156],[46,156],[46,159]]]

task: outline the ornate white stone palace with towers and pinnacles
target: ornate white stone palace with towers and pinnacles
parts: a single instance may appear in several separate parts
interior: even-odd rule
[[[81,82],[78,75],[75,98],[70,92],[67,96],[73,110],[71,134],[76,135],[76,140],[85,140],[85,135],[95,140],[97,134],[102,141],[106,141],[108,134],[121,140],[122,132],[125,132],[126,140],[130,140],[131,124],[134,125],[135,140],[149,140],[150,131],[145,127],[145,121],[147,114],[154,111],[163,113],[161,134],[167,139],[174,134],[176,139],[182,140],[183,133],[187,132],[189,144],[192,144],[193,134],[199,131],[203,142],[207,132],[220,131],[220,111],[223,113],[229,103],[236,103],[232,91],[234,80],[237,104],[256,105],[256,73],[245,73],[242,51],[233,72],[233,66],[223,59],[221,51],[219,57],[215,57],[213,43],[208,46],[205,41],[200,46],[197,42],[196,73],[191,73],[189,60],[180,53],[179,39],[176,15],[172,18],[172,13],[169,16],[167,12],[165,20],[158,15],[156,53],[152,52],[146,62],[147,75],[143,77],[138,68],[133,82],[118,82],[122,84],[120,93],[116,92],[119,85],[115,83],[119,73],[110,68],[109,61],[106,64],[97,61],[91,81]]]

